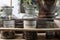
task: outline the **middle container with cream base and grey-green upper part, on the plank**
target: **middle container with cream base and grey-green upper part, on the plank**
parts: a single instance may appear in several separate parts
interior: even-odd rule
[[[26,15],[23,16],[24,19],[24,28],[36,28],[36,14],[34,7],[32,5],[27,5],[26,7]]]

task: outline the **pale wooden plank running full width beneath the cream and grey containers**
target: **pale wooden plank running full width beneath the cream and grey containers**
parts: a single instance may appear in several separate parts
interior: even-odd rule
[[[60,31],[60,28],[29,28],[29,29],[24,29],[24,28],[0,28],[0,30],[5,31],[5,30],[19,30],[19,31]]]

